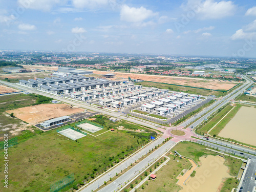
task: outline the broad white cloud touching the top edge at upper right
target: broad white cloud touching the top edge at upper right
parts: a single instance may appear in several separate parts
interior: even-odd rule
[[[192,13],[201,20],[220,19],[234,15],[237,6],[232,1],[215,0],[187,0],[186,4],[181,6],[187,14]]]

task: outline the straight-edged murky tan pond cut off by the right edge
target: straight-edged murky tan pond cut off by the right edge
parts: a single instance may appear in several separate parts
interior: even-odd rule
[[[235,139],[256,146],[256,109],[242,106],[219,133],[220,137]]]

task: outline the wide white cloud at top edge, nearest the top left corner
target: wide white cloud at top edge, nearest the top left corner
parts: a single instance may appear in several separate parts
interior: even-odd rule
[[[18,0],[17,2],[26,9],[50,11],[53,7],[66,3],[66,0]]]

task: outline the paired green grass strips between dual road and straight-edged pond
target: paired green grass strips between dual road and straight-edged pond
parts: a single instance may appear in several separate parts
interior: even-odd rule
[[[218,123],[231,109],[233,106],[227,105],[221,112],[219,112],[214,118],[212,118],[208,123],[202,126],[197,132],[201,134],[206,134],[216,123]],[[218,135],[220,131],[225,127],[225,125],[236,115],[241,105],[237,105],[221,122],[219,122],[214,129],[210,131],[210,135]]]

